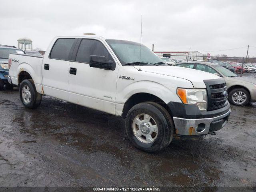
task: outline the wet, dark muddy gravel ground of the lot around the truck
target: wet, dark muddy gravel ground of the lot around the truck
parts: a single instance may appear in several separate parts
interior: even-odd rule
[[[256,103],[232,106],[216,135],[134,148],[124,120],[44,96],[0,92],[0,186],[256,186]]]

